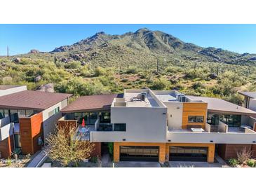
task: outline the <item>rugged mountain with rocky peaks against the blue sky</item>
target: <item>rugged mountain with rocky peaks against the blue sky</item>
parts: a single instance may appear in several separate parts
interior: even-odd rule
[[[147,64],[147,62],[155,60],[156,57],[163,57],[166,60],[256,64],[255,54],[239,54],[222,48],[203,48],[193,43],[185,43],[170,34],[151,31],[147,28],[122,35],[99,32],[71,46],[55,48],[50,53],[65,53],[75,60],[100,63],[116,62],[117,59],[119,62],[121,60],[121,62],[137,63],[135,61],[137,60]],[[74,56],[74,54],[76,55]],[[142,57],[145,61],[142,60]]]

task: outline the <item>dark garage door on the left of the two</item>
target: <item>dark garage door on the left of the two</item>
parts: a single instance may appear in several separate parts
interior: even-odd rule
[[[120,146],[121,161],[159,161],[159,146]]]

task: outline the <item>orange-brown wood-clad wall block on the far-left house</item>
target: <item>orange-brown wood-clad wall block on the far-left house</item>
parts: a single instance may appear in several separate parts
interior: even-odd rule
[[[22,153],[34,154],[41,149],[41,146],[38,145],[38,138],[43,135],[43,114],[39,113],[31,117],[22,117],[19,118],[19,121]]]

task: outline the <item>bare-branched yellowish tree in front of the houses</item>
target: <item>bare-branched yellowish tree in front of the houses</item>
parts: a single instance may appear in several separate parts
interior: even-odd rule
[[[90,153],[94,149],[94,144],[81,140],[81,135],[77,134],[76,128],[72,125],[58,128],[55,134],[50,134],[46,138],[46,143],[50,147],[48,156],[65,167],[70,163],[75,163],[78,167],[78,161],[90,158]]]

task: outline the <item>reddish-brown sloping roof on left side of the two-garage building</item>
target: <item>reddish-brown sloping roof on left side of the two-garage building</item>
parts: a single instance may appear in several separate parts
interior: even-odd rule
[[[118,97],[118,95],[90,95],[79,97],[61,111],[62,113],[73,113],[93,110],[109,110],[115,97]]]

